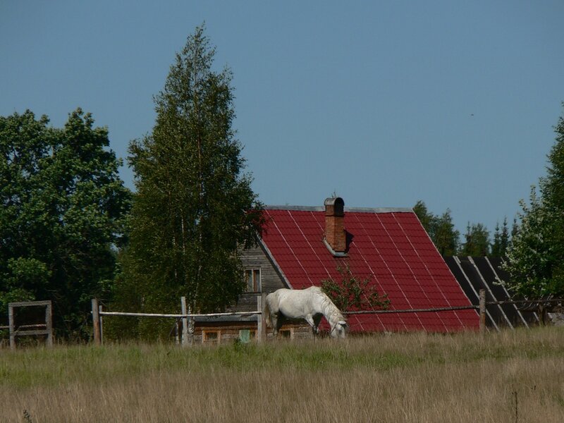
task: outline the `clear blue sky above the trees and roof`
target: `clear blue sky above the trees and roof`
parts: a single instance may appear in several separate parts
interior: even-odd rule
[[[0,115],[60,127],[80,106],[125,158],[205,21],[262,202],[424,200],[461,232],[493,232],[545,174],[564,112],[563,16],[561,0],[0,0]]]

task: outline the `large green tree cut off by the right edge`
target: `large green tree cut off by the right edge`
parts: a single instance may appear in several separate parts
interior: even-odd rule
[[[510,288],[517,295],[539,298],[564,295],[564,119],[554,128],[556,142],[548,154],[547,175],[540,179],[540,196],[533,187],[529,204],[521,202],[505,261]]]

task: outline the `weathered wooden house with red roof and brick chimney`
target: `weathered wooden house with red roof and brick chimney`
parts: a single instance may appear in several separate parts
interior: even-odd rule
[[[389,309],[429,309],[471,305],[443,257],[412,209],[345,208],[340,197],[323,207],[265,207],[266,223],[257,247],[243,252],[249,291],[237,310],[256,310],[257,294],[278,288],[319,286],[327,278],[339,280],[338,268],[349,266],[357,278],[369,278],[376,290],[388,295]],[[234,321],[199,321],[202,340],[236,337],[237,330],[252,336],[256,317]],[[446,312],[352,314],[352,333],[374,331],[455,332],[477,330],[474,309]],[[235,331],[233,331],[235,328]],[[239,329],[237,329],[239,328]],[[240,329],[245,328],[245,329]],[[223,333],[222,333],[223,331]],[[290,324],[281,331],[310,336],[309,326]],[[212,338],[208,338],[212,333]]]

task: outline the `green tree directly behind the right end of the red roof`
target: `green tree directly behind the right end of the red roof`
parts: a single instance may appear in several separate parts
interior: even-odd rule
[[[441,255],[452,256],[457,254],[460,233],[454,228],[450,209],[446,209],[446,212],[441,216],[435,215],[429,212],[422,200],[419,200],[415,203],[413,212],[417,214],[423,228],[427,231]]]

